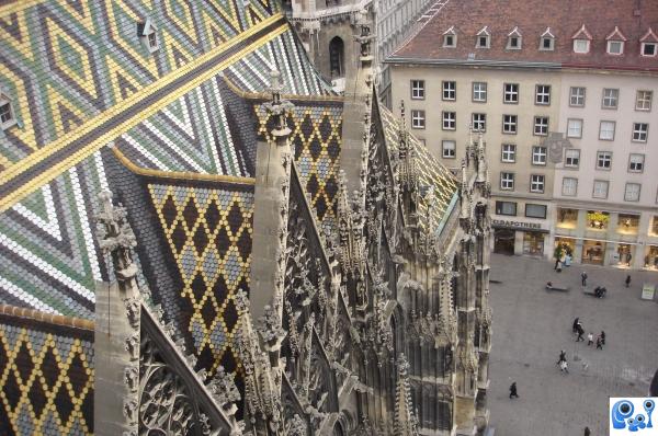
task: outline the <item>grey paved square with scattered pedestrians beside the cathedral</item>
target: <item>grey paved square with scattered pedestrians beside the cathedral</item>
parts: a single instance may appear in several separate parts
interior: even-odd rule
[[[658,274],[612,267],[574,265],[563,273],[548,261],[492,254],[491,307],[494,337],[490,355],[490,425],[496,436],[608,435],[609,397],[646,395],[658,368],[658,303],[640,300],[644,282],[658,286]],[[604,299],[585,295],[580,273],[589,275],[588,290],[608,288]],[[552,280],[568,292],[546,291]],[[586,342],[576,343],[571,323],[580,318]],[[603,351],[587,346],[587,333],[605,331]],[[556,365],[567,352],[569,374]],[[583,369],[582,363],[589,367]],[[510,400],[517,381],[519,399]]]

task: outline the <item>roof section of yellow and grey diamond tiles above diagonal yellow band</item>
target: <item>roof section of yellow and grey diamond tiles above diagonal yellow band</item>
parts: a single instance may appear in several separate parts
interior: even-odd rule
[[[0,9],[0,171],[271,15],[274,2],[43,1]],[[160,48],[137,36],[150,18]],[[36,104],[34,104],[36,102]]]

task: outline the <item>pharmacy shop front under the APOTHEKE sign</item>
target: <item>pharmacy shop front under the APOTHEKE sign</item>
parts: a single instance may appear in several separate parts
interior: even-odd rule
[[[492,219],[494,252],[544,256],[548,230],[541,222]]]

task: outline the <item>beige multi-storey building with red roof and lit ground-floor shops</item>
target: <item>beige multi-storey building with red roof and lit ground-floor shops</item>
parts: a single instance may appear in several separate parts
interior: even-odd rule
[[[388,57],[392,95],[447,167],[486,129],[496,252],[656,269],[658,9],[599,7],[447,1]]]

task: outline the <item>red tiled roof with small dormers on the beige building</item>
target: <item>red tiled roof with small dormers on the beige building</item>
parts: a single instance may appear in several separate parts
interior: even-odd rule
[[[571,37],[581,27],[591,34],[589,54],[574,53]],[[457,47],[443,47],[443,33],[454,26]],[[475,48],[476,35],[487,26],[490,48]],[[509,50],[508,34],[519,27],[522,49]],[[615,26],[627,38],[624,54],[608,55],[605,37]],[[551,27],[555,49],[542,51],[541,35]],[[388,61],[460,61],[469,54],[476,61],[549,62],[563,67],[656,70],[658,57],[643,57],[640,38],[653,42],[658,30],[658,0],[449,0],[432,20]]]

